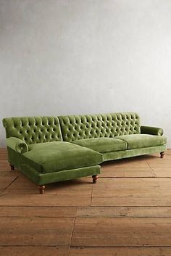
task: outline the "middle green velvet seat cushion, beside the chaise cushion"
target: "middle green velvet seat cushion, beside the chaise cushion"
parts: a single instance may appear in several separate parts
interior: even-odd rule
[[[72,143],[86,146],[100,153],[115,152],[127,149],[127,143],[120,139],[112,138],[95,138],[95,139],[79,139]]]

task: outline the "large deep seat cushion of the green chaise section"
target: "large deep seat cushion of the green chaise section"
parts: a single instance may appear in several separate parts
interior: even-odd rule
[[[31,144],[22,154],[22,162],[40,173],[70,170],[97,165],[102,162],[99,152],[64,141]]]

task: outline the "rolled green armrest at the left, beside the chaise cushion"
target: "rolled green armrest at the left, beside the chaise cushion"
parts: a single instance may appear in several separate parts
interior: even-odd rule
[[[25,141],[22,141],[21,139],[18,139],[16,137],[9,137],[6,141],[7,146],[9,146],[11,149],[14,149],[14,151],[20,154],[28,152],[28,145],[25,143]]]

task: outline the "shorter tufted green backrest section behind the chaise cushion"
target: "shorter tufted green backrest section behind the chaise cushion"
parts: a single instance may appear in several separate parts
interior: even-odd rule
[[[58,117],[7,117],[3,119],[6,137],[17,137],[27,144],[62,141]]]

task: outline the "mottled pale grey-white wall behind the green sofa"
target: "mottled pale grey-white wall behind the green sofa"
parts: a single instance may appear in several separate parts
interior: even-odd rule
[[[171,1],[0,0],[0,86],[0,119],[133,111],[171,147]]]

